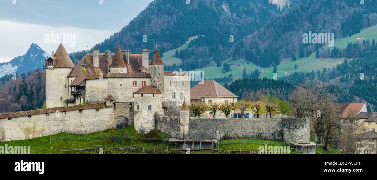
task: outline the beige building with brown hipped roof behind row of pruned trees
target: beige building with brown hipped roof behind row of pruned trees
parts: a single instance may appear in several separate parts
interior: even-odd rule
[[[235,103],[238,101],[238,96],[227,90],[215,80],[204,80],[204,83],[196,84],[191,88],[191,103],[205,102],[210,104]],[[208,117],[210,111],[201,114],[201,117]],[[215,117],[219,113],[216,112]],[[233,113],[233,112],[232,112]],[[224,116],[224,114],[222,114]]]

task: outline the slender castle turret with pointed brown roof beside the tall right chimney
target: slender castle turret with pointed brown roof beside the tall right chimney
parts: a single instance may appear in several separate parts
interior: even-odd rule
[[[157,48],[153,52],[152,59],[149,62],[149,74],[152,78],[150,84],[155,85],[162,94],[164,93],[164,63],[162,63]],[[157,80],[156,80],[157,78]],[[158,84],[158,85],[157,85]]]

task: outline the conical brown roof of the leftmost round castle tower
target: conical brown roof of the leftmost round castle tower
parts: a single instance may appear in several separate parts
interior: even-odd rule
[[[54,57],[51,57],[54,59],[55,64],[54,68],[73,68],[75,65],[72,63],[72,60],[70,59],[66,49],[64,48],[63,44],[60,44],[58,49],[55,52]],[[49,59],[49,58],[47,58]],[[47,60],[46,59],[46,60]],[[46,68],[48,68],[48,63],[46,61]]]

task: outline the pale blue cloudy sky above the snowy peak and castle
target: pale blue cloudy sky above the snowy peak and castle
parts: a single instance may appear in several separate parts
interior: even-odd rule
[[[153,0],[0,0],[0,63],[31,43],[51,54],[89,49],[130,23]]]

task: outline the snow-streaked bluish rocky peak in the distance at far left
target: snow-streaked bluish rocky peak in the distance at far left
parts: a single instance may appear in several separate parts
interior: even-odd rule
[[[0,78],[12,73],[25,73],[44,66],[44,60],[50,57],[37,44],[32,43],[28,51],[7,63],[0,63]]]

